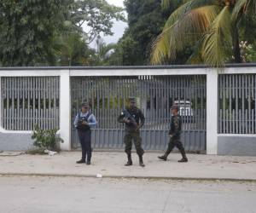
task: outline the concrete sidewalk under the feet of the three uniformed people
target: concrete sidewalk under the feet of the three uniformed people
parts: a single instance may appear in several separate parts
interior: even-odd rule
[[[256,181],[256,156],[211,156],[189,154],[189,163],[180,164],[180,154],[172,153],[168,161],[160,161],[160,153],[145,153],[145,168],[138,165],[133,153],[133,164],[125,167],[125,153],[94,152],[92,164],[75,164],[79,152],[63,152],[54,156],[0,153],[2,176],[90,176],[136,177],[163,179],[201,179]]]

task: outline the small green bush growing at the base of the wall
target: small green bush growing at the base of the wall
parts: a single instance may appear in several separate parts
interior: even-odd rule
[[[34,140],[34,147],[39,149],[48,149],[51,151],[57,150],[57,143],[63,142],[59,135],[56,135],[57,130],[42,130],[35,126],[32,132],[32,139]]]

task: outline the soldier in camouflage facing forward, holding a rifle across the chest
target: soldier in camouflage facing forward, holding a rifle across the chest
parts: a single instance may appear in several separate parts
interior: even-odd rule
[[[129,98],[129,107],[127,107],[118,118],[119,123],[125,124],[125,153],[128,157],[128,162],[125,166],[132,165],[131,160],[131,147],[132,140],[134,141],[137,155],[139,156],[139,164],[144,167],[143,163],[143,153],[144,150],[142,148],[142,137],[140,135],[140,128],[145,123],[145,118],[143,112],[136,107],[135,98]]]

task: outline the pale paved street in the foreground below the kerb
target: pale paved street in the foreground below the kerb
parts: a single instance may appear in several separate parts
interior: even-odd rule
[[[256,212],[256,183],[0,177],[0,212]]]

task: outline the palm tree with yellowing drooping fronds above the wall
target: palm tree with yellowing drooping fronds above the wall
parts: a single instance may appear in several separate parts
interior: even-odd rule
[[[162,0],[167,8],[171,0]],[[241,63],[239,23],[255,15],[256,0],[190,0],[185,1],[166,21],[166,26],[154,42],[151,62],[173,61],[177,53],[193,47],[189,61],[209,66],[224,66],[233,55]]]

